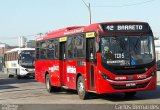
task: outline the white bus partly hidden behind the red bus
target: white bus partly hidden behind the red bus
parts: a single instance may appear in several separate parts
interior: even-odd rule
[[[4,54],[4,72],[8,77],[34,77],[35,48],[14,48]]]

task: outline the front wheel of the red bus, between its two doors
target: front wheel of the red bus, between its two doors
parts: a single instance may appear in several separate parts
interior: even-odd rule
[[[84,79],[82,78],[82,76],[78,77],[77,92],[80,99],[85,100],[87,98],[86,87],[85,87]]]

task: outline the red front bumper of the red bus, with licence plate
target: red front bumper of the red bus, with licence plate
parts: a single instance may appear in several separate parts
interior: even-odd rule
[[[156,89],[157,77],[150,76],[142,80],[114,81],[100,79],[97,93],[135,92]]]

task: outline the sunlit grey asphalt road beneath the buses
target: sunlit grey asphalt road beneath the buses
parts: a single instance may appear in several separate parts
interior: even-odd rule
[[[92,94],[88,100],[80,100],[75,91],[49,94],[45,85],[34,79],[8,79],[0,72],[0,104],[160,104],[160,72],[157,75],[157,90],[138,92],[134,98],[119,93]]]

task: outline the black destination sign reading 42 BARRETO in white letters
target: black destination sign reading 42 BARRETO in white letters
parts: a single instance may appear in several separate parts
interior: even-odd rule
[[[148,32],[149,26],[146,23],[123,23],[123,24],[102,24],[104,32]]]

